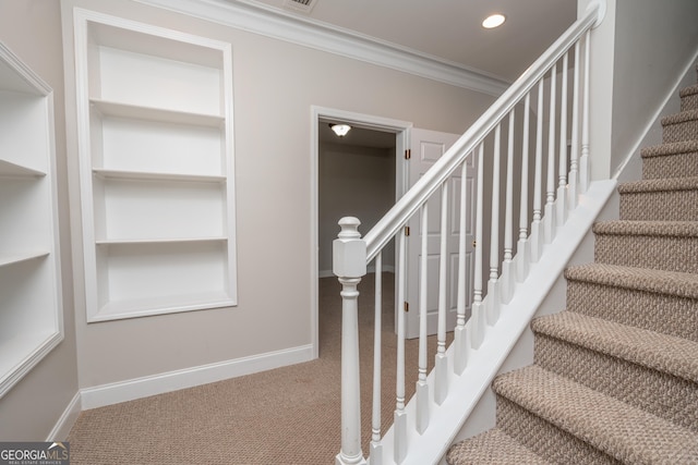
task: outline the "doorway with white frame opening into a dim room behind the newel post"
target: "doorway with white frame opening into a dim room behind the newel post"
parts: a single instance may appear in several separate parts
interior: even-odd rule
[[[410,123],[348,113],[339,110],[313,108],[313,208],[311,282],[313,285],[312,321],[313,348],[320,356],[321,307],[340,314],[340,285],[332,273],[332,242],[337,237],[341,217],[361,220],[362,235],[395,204],[406,189],[405,160],[401,156],[409,143]],[[330,124],[351,126],[342,137],[330,130]],[[394,311],[394,246],[383,253],[382,280],[384,302]],[[374,269],[369,268],[372,273]],[[361,283],[360,309],[373,308],[373,274]],[[332,318],[338,317],[334,315]],[[339,315],[340,316],[340,315]],[[392,322],[390,322],[392,323]],[[324,329],[324,327],[323,327]],[[338,335],[338,334],[337,334]]]

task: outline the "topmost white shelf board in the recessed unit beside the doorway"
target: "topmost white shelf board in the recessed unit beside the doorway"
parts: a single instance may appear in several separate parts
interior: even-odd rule
[[[220,114],[203,114],[192,113],[188,111],[164,110],[160,108],[141,107],[97,98],[89,99],[89,103],[91,106],[99,110],[103,115],[127,118],[132,120],[191,124],[206,127],[220,127],[220,125],[225,121],[225,118]]]

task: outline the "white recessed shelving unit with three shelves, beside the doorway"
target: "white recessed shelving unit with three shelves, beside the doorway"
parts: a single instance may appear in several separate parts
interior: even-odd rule
[[[74,15],[87,321],[237,305],[230,45]]]

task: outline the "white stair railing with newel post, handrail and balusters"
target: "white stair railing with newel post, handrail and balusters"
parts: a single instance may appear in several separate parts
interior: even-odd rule
[[[594,23],[600,22],[602,7],[593,3],[587,14],[573,24],[521,77],[488,109],[483,115],[448,149],[376,225],[361,238],[356,218],[339,221],[341,232],[334,243],[334,272],[342,285],[341,341],[341,449],[337,465],[365,464],[361,450],[361,404],[359,387],[358,284],[368,265],[375,260],[375,336],[373,370],[373,408],[370,433],[372,465],[406,462],[414,438],[433,428],[438,408],[453,395],[449,386],[454,377],[461,377],[468,357],[488,338],[488,329],[496,326],[501,307],[508,304],[517,285],[522,285],[532,264],[541,260],[544,248],[567,221],[569,210],[577,207],[577,196],[589,186],[589,41]],[[580,56],[583,47],[583,57]],[[571,96],[568,93],[568,65],[573,56]],[[559,64],[559,66],[558,66]],[[559,73],[558,73],[559,71]],[[558,83],[559,79],[559,83]],[[559,86],[559,87],[558,87]],[[537,105],[532,107],[531,102]],[[545,106],[547,102],[547,106]],[[547,107],[547,111],[545,108]],[[568,123],[568,111],[571,123]],[[518,114],[517,114],[518,113]],[[530,114],[533,113],[533,114]],[[522,124],[516,125],[516,121]],[[535,121],[531,125],[531,121]],[[503,144],[502,134],[506,134]],[[579,135],[581,134],[581,140]],[[520,144],[517,143],[520,140]],[[546,143],[544,144],[544,140]],[[571,140],[568,150],[567,142]],[[530,144],[529,144],[530,143]],[[520,149],[519,149],[520,148]],[[530,154],[534,154],[531,160]],[[544,156],[545,154],[545,156]],[[581,154],[579,156],[579,154]],[[457,280],[457,318],[455,328],[446,327],[448,279],[447,234],[449,218],[449,181],[458,168],[466,179],[466,164],[474,157],[478,167],[476,201],[476,257],[473,270],[466,264],[467,192],[460,191],[460,228]],[[502,160],[504,158],[504,160]],[[490,162],[491,160],[491,162]],[[520,160],[520,162],[517,162]],[[515,166],[520,170],[515,172]],[[530,166],[532,164],[532,167]],[[488,167],[485,167],[488,166]],[[530,169],[531,168],[531,169]],[[545,173],[545,185],[543,185]],[[485,175],[486,174],[486,175]],[[515,182],[517,180],[518,182]],[[533,185],[532,191],[530,189]],[[516,185],[516,189],[515,189]],[[406,255],[408,238],[402,229],[420,215],[422,230],[426,229],[428,200],[441,195],[441,247],[438,268],[438,319],[434,371],[428,376],[426,346],[426,234],[422,235],[420,267],[420,330],[419,362],[414,407],[408,408],[405,372],[405,313],[397,311],[397,372],[395,386],[394,425],[389,443],[381,437],[381,250],[397,237],[397,301],[405,302]],[[485,211],[485,195],[491,209]],[[501,201],[503,197],[504,201]],[[518,208],[515,208],[518,201]],[[544,201],[544,204],[543,204]],[[502,208],[502,205],[504,208]],[[518,215],[517,215],[518,212]],[[518,219],[515,217],[518,216]],[[529,223],[530,218],[530,223]],[[484,256],[484,228],[489,228],[490,250]],[[514,235],[517,235],[516,247]],[[486,277],[483,260],[488,259]],[[472,272],[470,276],[469,273]],[[483,287],[486,278],[486,289]],[[472,295],[466,295],[468,281]],[[471,316],[466,302],[471,297]],[[446,350],[446,332],[454,331],[453,347]],[[450,359],[449,357],[453,357]],[[412,415],[412,417],[410,417]],[[448,438],[444,438],[448,440]],[[440,457],[433,457],[438,461]]]

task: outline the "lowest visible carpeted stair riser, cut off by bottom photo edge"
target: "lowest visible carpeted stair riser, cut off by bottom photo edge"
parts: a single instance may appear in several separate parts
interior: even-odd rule
[[[552,463],[579,465],[622,463],[502,395],[497,395],[496,403],[497,426]]]

